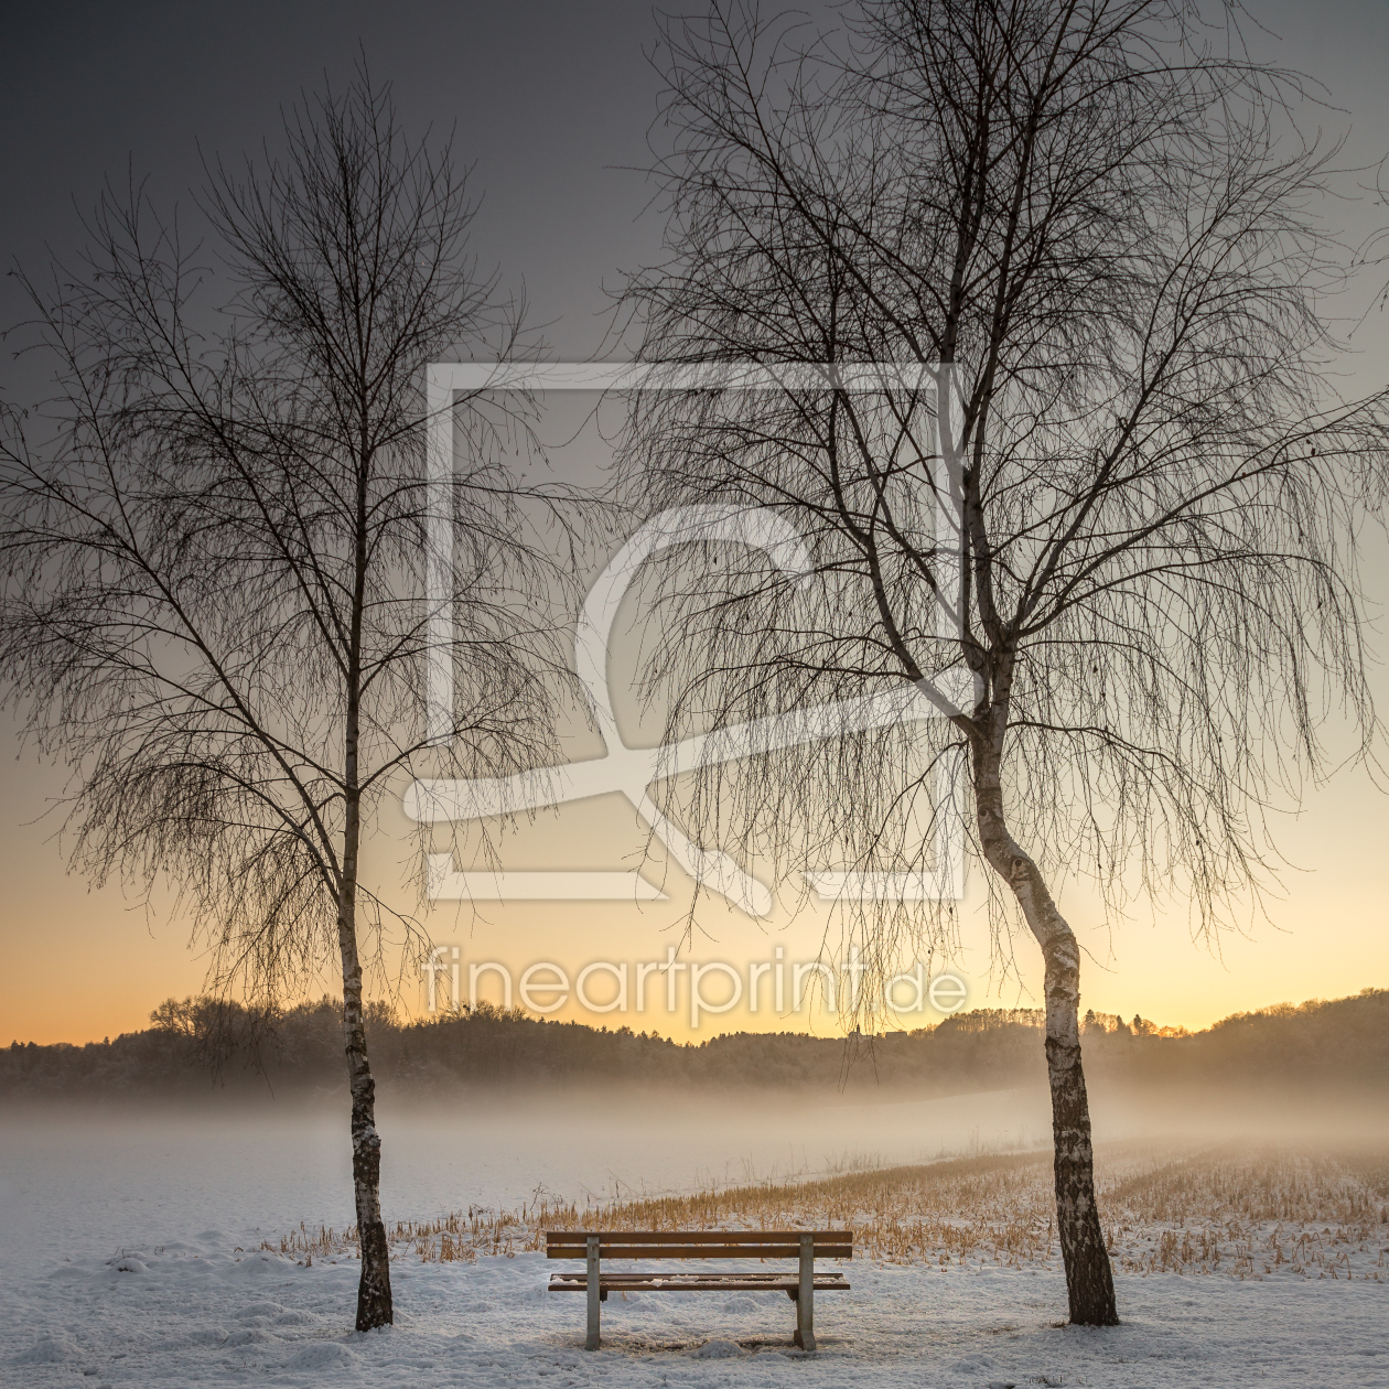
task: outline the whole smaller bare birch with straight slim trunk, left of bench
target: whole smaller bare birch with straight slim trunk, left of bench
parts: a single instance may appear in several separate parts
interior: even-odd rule
[[[210,168],[211,271],[135,190],[103,199],[76,274],[28,285],[57,396],[8,418],[0,663],[72,768],[82,870],[167,875],[222,992],[272,1001],[340,961],[367,1329],[392,1292],[364,968],[388,929],[407,963],[422,936],[363,881],[364,836],[421,765],[553,760],[563,663],[526,613],[556,596],[533,526],[557,499],[508,461],[524,415],[456,403],[456,697],[429,746],[424,367],[507,350],[515,306],[468,254],[449,144],[408,143],[365,69],[283,149]]]

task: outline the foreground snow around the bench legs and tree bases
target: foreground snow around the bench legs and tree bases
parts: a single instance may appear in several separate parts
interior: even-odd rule
[[[553,1267],[553,1265],[551,1265]],[[1057,1326],[1058,1274],[854,1264],[817,1299],[820,1350],[790,1346],[781,1293],[544,1290],[540,1254],[394,1270],[397,1322],[350,1333],[357,1268],[238,1256],[207,1231],[161,1253],[6,1274],[6,1385],[1299,1385],[1389,1383],[1389,1289],[1365,1282],[1121,1279],[1124,1324]],[[19,1315],[17,1315],[19,1314]]]

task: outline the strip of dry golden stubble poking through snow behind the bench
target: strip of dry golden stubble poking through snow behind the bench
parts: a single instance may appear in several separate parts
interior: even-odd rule
[[[1097,1154],[1100,1208],[1118,1270],[1378,1282],[1389,1240],[1389,1161],[1268,1147]],[[686,1196],[589,1201],[544,1196],[515,1210],[469,1207],[400,1222],[396,1257],[472,1261],[544,1247],[546,1229],[851,1228],[856,1254],[879,1263],[1058,1268],[1049,1153],[967,1157],[915,1167],[763,1182]],[[356,1229],[303,1225],[265,1249],[351,1257]]]

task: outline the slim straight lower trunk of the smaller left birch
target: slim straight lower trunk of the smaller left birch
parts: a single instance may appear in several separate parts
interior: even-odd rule
[[[357,1329],[371,1331],[394,1320],[390,1301],[390,1250],[381,1218],[381,1136],[376,1133],[376,1082],[367,1060],[367,1028],[361,1006],[361,961],[357,957],[358,810],[347,804],[343,882],[338,906],[338,945],[343,958],[343,1042],[351,1088],[351,1176],[361,1243],[357,1285]]]

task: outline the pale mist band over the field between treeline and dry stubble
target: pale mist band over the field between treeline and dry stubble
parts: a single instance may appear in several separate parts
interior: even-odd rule
[[[842,1046],[842,1043],[840,1043]],[[697,1050],[697,1049],[694,1049]],[[1254,1163],[1271,1147],[1389,1164],[1389,1106],[1376,1089],[1182,1089],[1120,1075],[1092,1088],[1101,1165],[1218,1150]],[[282,1086],[196,1095],[126,1092],[17,1097],[0,1125],[6,1242],[79,1249],[161,1243],[217,1228],[228,1249],[251,1235],[351,1224],[351,1153],[340,1097]],[[519,1208],[546,1197],[579,1208],[636,1197],[804,1185],[849,1174],[1035,1158],[1049,1170],[1043,1079],[907,1097],[900,1088],[753,1086],[553,1079],[440,1086],[385,1097],[379,1121],[390,1221],[450,1210]],[[1046,1182],[1043,1181],[1043,1186]]]

